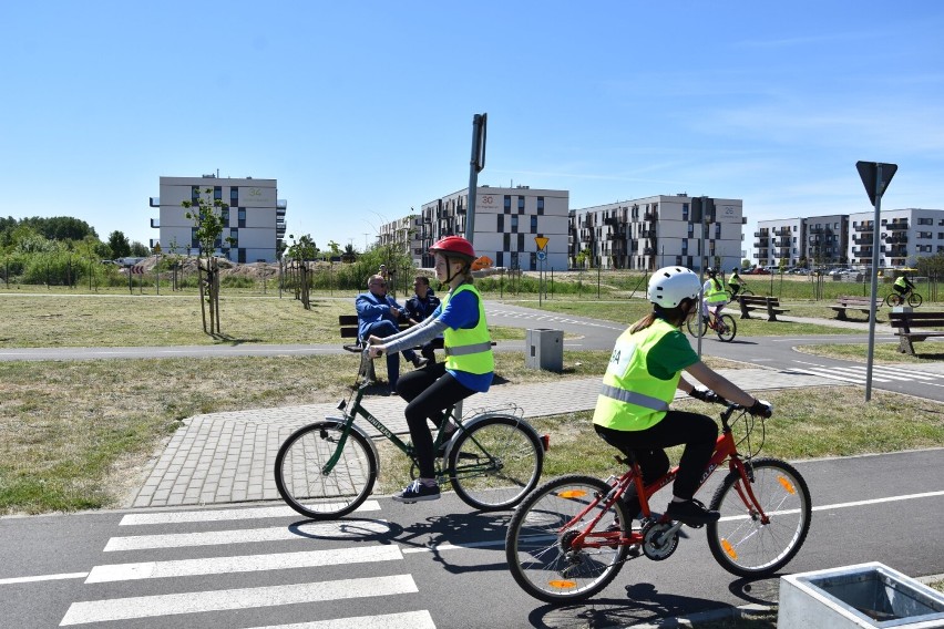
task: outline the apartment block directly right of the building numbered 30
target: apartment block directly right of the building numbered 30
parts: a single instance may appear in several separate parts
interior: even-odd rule
[[[743,202],[704,197],[714,217],[699,217],[702,197],[658,195],[571,212],[570,255],[574,267],[655,270],[680,265],[735,268],[741,264]],[[704,217],[704,215],[701,215]],[[706,264],[702,265],[702,258]]]

